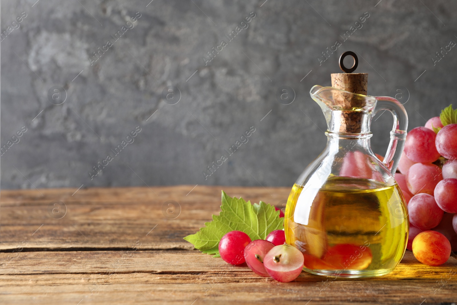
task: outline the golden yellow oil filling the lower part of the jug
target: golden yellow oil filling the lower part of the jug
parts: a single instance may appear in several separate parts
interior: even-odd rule
[[[305,256],[304,270],[339,277],[389,273],[404,255],[409,221],[397,184],[330,177],[318,189],[295,184],[287,200],[288,244]]]

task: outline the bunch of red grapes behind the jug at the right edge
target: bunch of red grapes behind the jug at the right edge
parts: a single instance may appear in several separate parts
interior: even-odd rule
[[[434,117],[412,129],[398,170],[408,203],[407,249],[426,265],[441,265],[457,251],[457,124]]]

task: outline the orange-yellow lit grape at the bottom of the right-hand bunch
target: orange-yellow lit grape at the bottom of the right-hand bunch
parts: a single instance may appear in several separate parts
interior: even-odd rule
[[[451,256],[451,243],[439,232],[424,231],[414,238],[413,254],[425,265],[439,266]]]

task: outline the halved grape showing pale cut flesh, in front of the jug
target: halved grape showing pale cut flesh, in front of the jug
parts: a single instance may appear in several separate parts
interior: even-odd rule
[[[276,281],[290,282],[302,273],[303,254],[296,247],[284,244],[274,246],[265,256],[266,272]]]

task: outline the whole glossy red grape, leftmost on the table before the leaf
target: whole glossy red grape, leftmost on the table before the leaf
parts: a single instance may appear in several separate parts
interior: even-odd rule
[[[230,231],[219,241],[219,254],[229,264],[239,265],[245,262],[244,248],[251,242],[249,236],[241,231]]]

